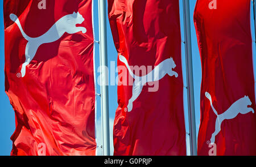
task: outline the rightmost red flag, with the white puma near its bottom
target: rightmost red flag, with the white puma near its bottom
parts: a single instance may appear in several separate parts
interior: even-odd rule
[[[250,0],[196,3],[203,79],[199,155],[256,155]]]

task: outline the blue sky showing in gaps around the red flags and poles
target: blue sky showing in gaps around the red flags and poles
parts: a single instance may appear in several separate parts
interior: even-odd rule
[[[199,130],[200,124],[200,87],[201,87],[201,61],[199,55],[199,49],[197,46],[197,38],[195,32],[195,26],[193,25],[193,10],[195,8],[196,0],[190,0],[190,10],[191,10],[191,33],[192,33],[192,54],[193,54],[193,75],[194,75],[194,89],[195,89],[195,109],[196,109],[196,129],[197,132]],[[253,15],[253,10],[251,10],[251,15]],[[117,51],[115,50],[112,33],[110,31],[109,22],[108,24],[108,63],[115,62],[115,66],[117,66]],[[180,0],[180,24],[181,24],[181,40],[184,41],[184,27],[183,27],[183,7],[182,0]],[[253,17],[251,17],[251,31],[254,40],[254,22]],[[98,3],[94,0],[94,31],[95,31],[95,40],[98,40]],[[255,40],[254,40],[255,41]],[[99,52],[98,52],[98,44],[96,44],[95,48],[96,54],[96,70],[99,66]],[[181,56],[183,62],[183,79],[184,85],[186,85],[185,78],[185,50],[184,45],[181,45]],[[255,53],[255,45],[253,43],[253,53]],[[3,0],[0,0],[0,105],[2,106],[0,109],[0,155],[10,155],[12,142],[10,140],[10,136],[13,134],[15,130],[15,117],[13,108],[10,105],[10,101],[5,93],[5,74],[4,74],[4,66],[5,66],[5,55],[4,55],[4,31],[3,31]],[[255,69],[255,60],[254,60],[254,69]],[[96,78],[98,78],[99,73],[96,71]],[[115,74],[117,76],[117,74]],[[255,76],[255,74],[254,74]],[[100,93],[100,86],[97,85],[97,93]],[[115,110],[117,109],[117,85],[109,86],[109,114],[110,114],[110,134],[112,134],[113,130],[113,120],[115,115]],[[99,138],[98,145],[101,145],[101,121],[100,121],[100,97],[97,97],[97,136]],[[184,116],[185,116],[185,126],[188,132],[188,110],[187,110],[187,91],[184,89]],[[112,136],[110,136],[112,138]],[[187,136],[187,151],[189,153],[189,140]],[[112,142],[113,140],[111,140]],[[113,144],[112,144],[112,152],[113,152]]]

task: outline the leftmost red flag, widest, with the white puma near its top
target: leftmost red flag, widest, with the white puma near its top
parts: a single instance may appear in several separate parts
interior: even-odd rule
[[[4,1],[11,155],[95,155],[91,0]]]

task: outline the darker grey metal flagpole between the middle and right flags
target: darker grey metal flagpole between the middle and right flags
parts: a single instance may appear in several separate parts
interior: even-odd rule
[[[192,156],[196,156],[197,155],[196,119],[195,119],[195,100],[194,100],[194,87],[193,87],[193,67],[192,67],[193,65],[192,65],[189,0],[183,0],[183,16],[184,16],[186,71],[187,71],[190,151]]]

